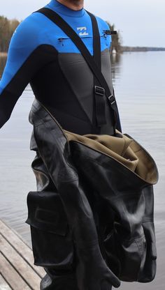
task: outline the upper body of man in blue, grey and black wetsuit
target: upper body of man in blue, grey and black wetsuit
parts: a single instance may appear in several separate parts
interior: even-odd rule
[[[83,0],[52,0],[45,7],[62,16],[93,55],[92,22],[83,5]],[[106,34],[109,27],[100,17],[96,17],[96,21],[101,40],[101,70],[112,92],[109,57],[111,36]],[[10,118],[15,103],[28,83],[36,99],[50,109],[62,128],[80,135],[114,135],[113,114],[105,95],[101,98],[104,100],[106,121],[99,126],[96,121],[94,75],[82,54],[59,26],[37,12],[29,15],[17,27],[10,41],[6,68],[0,82],[0,128]],[[41,161],[36,155],[35,162],[37,158]],[[102,282],[98,280],[98,289],[109,290],[111,284],[117,286],[115,276],[105,265],[96,266],[95,277],[91,279],[97,278],[97,270],[101,267],[106,269],[106,274],[102,275]],[[41,289],[78,289],[71,270],[62,270],[60,265],[45,270],[48,274],[41,282]],[[89,282],[89,290],[94,290],[92,282]]]

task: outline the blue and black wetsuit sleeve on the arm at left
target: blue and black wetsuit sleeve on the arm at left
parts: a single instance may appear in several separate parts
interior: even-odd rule
[[[40,30],[34,17],[27,17],[17,26],[10,40],[8,58],[0,79],[0,128],[8,121],[15,104],[30,79],[43,66],[38,54]]]

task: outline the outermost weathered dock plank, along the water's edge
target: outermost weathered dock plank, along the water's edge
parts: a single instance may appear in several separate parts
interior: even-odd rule
[[[45,275],[45,270],[42,267],[34,265],[33,252],[31,251],[29,245],[24,243],[24,241],[22,241],[22,238],[16,233],[16,231],[10,229],[1,220],[0,233],[4,238],[6,238],[8,243],[10,243],[10,245],[12,245],[12,247],[14,247],[15,250],[24,258],[24,260],[26,260],[27,263],[31,265],[32,268],[34,268],[34,271],[38,273],[40,277],[43,277]]]

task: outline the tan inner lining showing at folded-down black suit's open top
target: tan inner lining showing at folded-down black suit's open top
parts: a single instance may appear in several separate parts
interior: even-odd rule
[[[144,181],[150,184],[157,183],[157,167],[150,155],[136,141],[117,130],[116,132],[122,138],[110,135],[78,135],[64,130],[69,141],[80,142],[96,151],[104,153],[122,163],[122,165],[131,171],[134,171]]]

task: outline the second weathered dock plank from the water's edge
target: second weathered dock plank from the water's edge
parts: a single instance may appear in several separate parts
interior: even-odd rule
[[[33,290],[38,290],[41,282],[41,278],[33,268],[27,264],[26,261],[18,254],[15,249],[6,241],[0,234],[0,249],[1,253],[10,264],[17,270],[17,273],[27,282],[29,287]],[[8,281],[8,279],[6,279]],[[23,288],[24,289],[24,288]]]

